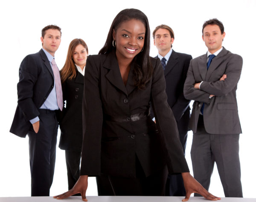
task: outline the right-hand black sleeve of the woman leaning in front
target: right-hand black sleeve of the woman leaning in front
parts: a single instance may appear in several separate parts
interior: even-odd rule
[[[177,123],[167,103],[166,82],[160,60],[154,67],[151,84],[151,103],[157,128],[162,139],[166,163],[170,173],[189,172],[183,149],[179,140]]]

